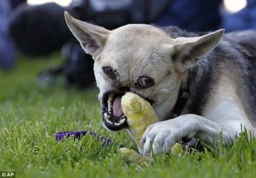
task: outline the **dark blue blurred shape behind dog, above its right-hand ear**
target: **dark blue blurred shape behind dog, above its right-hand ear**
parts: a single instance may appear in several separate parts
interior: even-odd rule
[[[173,0],[156,24],[177,26],[190,32],[218,30],[221,3],[222,0]]]

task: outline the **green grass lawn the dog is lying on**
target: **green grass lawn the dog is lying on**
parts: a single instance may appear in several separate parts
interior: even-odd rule
[[[255,177],[256,140],[245,133],[227,146],[218,142],[203,152],[126,163],[119,144],[136,144],[125,131],[103,128],[96,87],[81,91],[37,81],[59,58],[18,56],[14,70],[0,72],[0,171],[16,171],[16,177]],[[118,144],[102,148],[90,135],[56,143],[54,133],[64,130],[93,130]]]

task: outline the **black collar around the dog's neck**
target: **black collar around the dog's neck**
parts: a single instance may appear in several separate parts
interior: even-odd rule
[[[186,105],[188,97],[189,97],[188,82],[186,82],[185,84],[181,84],[178,99],[173,108],[174,118],[180,116],[181,110]]]

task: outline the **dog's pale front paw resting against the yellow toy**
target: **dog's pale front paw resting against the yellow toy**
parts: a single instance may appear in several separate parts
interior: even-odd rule
[[[154,154],[158,154],[163,151],[169,151],[179,139],[193,138],[196,135],[197,128],[195,123],[187,119],[178,117],[148,126],[140,141],[141,145],[145,142],[143,155],[151,152],[151,145]]]

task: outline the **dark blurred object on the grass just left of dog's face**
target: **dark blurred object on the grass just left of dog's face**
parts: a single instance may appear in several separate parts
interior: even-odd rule
[[[79,43],[65,43],[61,49],[64,62],[55,69],[45,70],[39,74],[40,81],[56,83],[65,78],[66,86],[85,88],[95,83],[93,72],[94,60],[92,56],[84,53]]]

